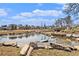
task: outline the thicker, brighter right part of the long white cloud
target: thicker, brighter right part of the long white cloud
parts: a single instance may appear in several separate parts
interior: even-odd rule
[[[55,17],[57,17],[62,14],[62,11],[36,9],[33,11],[33,13],[36,14],[37,16],[55,16]]]

